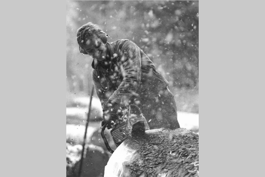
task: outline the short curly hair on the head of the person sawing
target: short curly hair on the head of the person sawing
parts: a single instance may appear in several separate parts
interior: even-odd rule
[[[85,45],[87,40],[100,38],[99,31],[102,30],[98,25],[88,22],[77,30],[77,43],[82,47],[83,45]]]

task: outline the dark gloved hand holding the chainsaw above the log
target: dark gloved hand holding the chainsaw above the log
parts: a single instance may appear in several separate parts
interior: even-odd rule
[[[103,104],[103,122],[108,129],[112,128],[115,121],[119,119],[118,109],[118,104],[113,101]]]

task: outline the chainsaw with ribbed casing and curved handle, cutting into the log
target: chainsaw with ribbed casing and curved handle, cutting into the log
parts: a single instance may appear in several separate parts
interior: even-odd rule
[[[150,130],[145,117],[140,108],[136,105],[128,105],[122,108],[121,113],[118,114],[118,123],[115,123],[110,131],[115,146],[118,147],[128,137],[144,133]],[[104,130],[106,125],[101,128],[101,137],[105,143],[106,148],[110,153],[114,151],[110,148],[109,143],[105,137]]]

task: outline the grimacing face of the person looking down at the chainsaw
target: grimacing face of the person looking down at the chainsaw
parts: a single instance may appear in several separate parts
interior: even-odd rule
[[[88,53],[92,58],[98,61],[103,61],[107,55],[107,46],[102,42],[100,38],[95,40],[88,40],[82,48]]]

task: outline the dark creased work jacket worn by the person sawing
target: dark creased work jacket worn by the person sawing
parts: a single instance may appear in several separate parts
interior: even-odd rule
[[[92,62],[92,79],[102,105],[109,100],[121,107],[136,104],[142,108],[145,100],[167,88],[168,81],[133,41],[121,39],[106,46],[108,67],[96,59]]]

